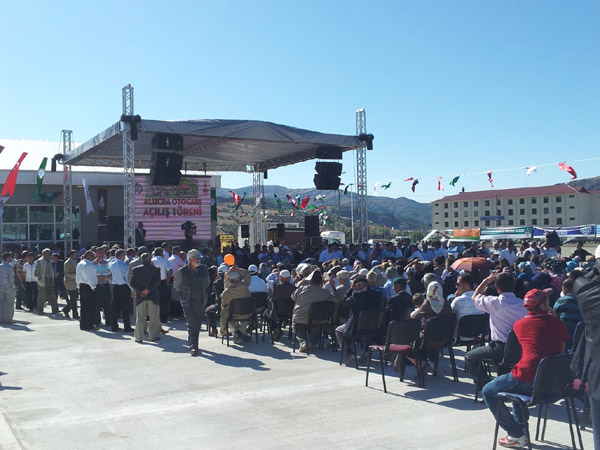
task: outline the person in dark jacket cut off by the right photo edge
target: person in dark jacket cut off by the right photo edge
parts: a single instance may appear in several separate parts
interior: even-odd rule
[[[571,367],[575,375],[588,383],[594,448],[600,449],[600,245],[596,248],[596,266],[575,280],[573,293],[585,323],[585,334],[577,345]]]

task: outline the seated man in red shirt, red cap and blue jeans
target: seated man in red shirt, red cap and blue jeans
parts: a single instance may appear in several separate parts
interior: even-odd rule
[[[510,373],[499,376],[483,387],[485,404],[508,436],[498,439],[503,447],[520,448],[527,445],[523,424],[523,411],[513,404],[513,413],[504,403],[498,410],[498,393],[531,395],[533,380],[540,361],[546,356],[564,353],[569,334],[560,319],[551,315],[549,305],[552,289],[532,289],[525,294],[523,305],[527,315],[515,322],[513,329],[523,353]]]

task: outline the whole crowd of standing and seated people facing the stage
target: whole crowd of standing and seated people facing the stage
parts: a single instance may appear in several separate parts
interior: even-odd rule
[[[250,340],[257,326],[253,314],[230,321],[229,308],[235,299],[264,293],[268,303],[258,313],[275,340],[292,326],[299,351],[306,353],[325,333],[332,346],[345,349],[350,365],[366,361],[369,344],[385,337],[390,321],[418,320],[425,325],[432,317],[443,317],[458,324],[464,316],[487,313],[489,344],[467,352],[466,365],[486,405],[508,433],[499,443],[522,447],[526,445],[522,419],[502,405],[498,410],[497,394],[531,393],[542,358],[574,346],[575,330],[585,321],[587,346],[579,358],[584,369],[577,375],[590,382],[591,411],[594,425],[598,424],[600,369],[591,355],[598,351],[600,246],[591,254],[579,243],[570,255],[562,255],[560,247],[549,242],[512,240],[490,247],[485,241],[473,241],[468,248],[450,249],[440,241],[416,245],[408,240],[321,248],[288,248],[272,242],[254,248],[234,243],[223,251],[212,247],[208,242],[186,253],[168,242],[129,249],[90,246],[72,250],[64,261],[50,249],[41,254],[4,253],[0,323],[13,321],[15,307],[45,314],[49,304],[51,314],[78,319],[83,331],[104,326],[115,333],[134,333],[141,343],[159,340],[168,333],[164,325],[170,318],[183,315],[189,353],[196,356],[201,353],[204,320],[210,336],[229,336],[238,345]],[[455,268],[460,259],[473,257],[487,263],[470,271]],[[60,310],[58,297],[65,300]],[[294,302],[291,323],[276,312],[282,299]],[[324,301],[334,305],[325,330],[308,327],[311,305]],[[360,314],[374,308],[385,311],[383,331],[361,335]],[[511,331],[521,344],[522,357],[509,373],[492,379],[480,370],[481,361],[499,364]],[[361,355],[354,354],[356,341],[362,345]],[[420,359],[422,373],[429,373],[433,358],[437,355]]]

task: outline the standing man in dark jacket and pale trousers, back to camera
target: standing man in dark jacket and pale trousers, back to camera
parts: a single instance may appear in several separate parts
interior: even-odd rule
[[[144,341],[144,330],[146,329],[146,316],[150,317],[148,322],[148,337],[150,341],[160,339],[159,296],[160,269],[152,264],[152,255],[144,253],[141,256],[142,265],[133,269],[131,275],[131,287],[135,290],[135,303],[137,305],[137,321],[135,326],[135,341]]]

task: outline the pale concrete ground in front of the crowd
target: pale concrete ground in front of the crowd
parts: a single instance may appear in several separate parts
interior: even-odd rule
[[[49,308],[46,308],[47,310]],[[424,389],[377,370],[340,367],[339,353],[292,353],[287,335],[229,348],[201,333],[187,354],[183,321],[156,343],[82,332],[62,315],[17,311],[0,326],[1,449],[489,449],[494,421],[448,358]],[[533,411],[532,414],[537,414]],[[530,429],[535,433],[535,421]],[[534,448],[570,448],[563,406]],[[592,435],[583,432],[591,449]]]

